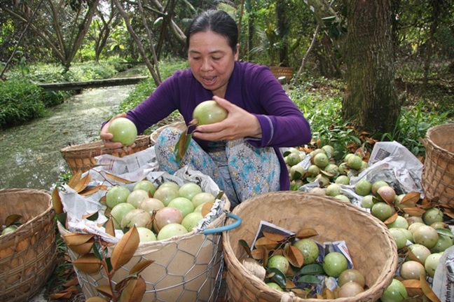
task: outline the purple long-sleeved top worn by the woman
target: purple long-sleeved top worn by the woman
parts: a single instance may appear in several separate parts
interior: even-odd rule
[[[192,120],[195,106],[212,99],[194,78],[191,69],[176,71],[135,109],[128,111],[139,133],[178,110],[186,124]],[[246,137],[256,148],[271,146],[280,160],[281,190],[289,189],[289,176],[280,147],[300,146],[310,142],[310,125],[268,67],[249,62],[235,62],[224,99],[254,114],[261,125],[261,139]],[[206,149],[207,142],[196,139]]]

